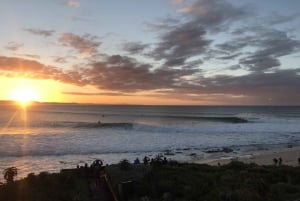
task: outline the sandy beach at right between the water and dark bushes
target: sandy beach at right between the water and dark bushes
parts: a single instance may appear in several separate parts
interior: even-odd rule
[[[222,159],[208,159],[194,161],[198,164],[227,164],[232,160],[238,160],[244,163],[256,163],[258,165],[273,165],[274,158],[282,158],[282,165],[298,166],[298,158],[300,158],[300,146],[291,148],[274,148],[270,150],[259,150],[249,153],[243,153],[240,156],[228,157]]]

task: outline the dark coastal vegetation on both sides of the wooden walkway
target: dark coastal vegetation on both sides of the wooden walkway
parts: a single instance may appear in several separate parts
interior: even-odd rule
[[[89,200],[77,171],[29,174],[0,186],[0,201]],[[300,167],[158,162],[134,165],[123,160],[105,168],[120,200],[294,201],[300,199]],[[122,191],[120,192],[120,189]]]

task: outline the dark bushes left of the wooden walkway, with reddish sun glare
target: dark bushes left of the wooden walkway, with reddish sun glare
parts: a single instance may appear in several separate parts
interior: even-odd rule
[[[86,180],[76,174],[29,174],[0,186],[0,201],[88,201]]]

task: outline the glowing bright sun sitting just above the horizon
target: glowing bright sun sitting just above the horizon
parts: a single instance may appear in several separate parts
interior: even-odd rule
[[[27,106],[33,101],[39,101],[39,96],[33,88],[20,87],[12,90],[11,99],[22,106]]]

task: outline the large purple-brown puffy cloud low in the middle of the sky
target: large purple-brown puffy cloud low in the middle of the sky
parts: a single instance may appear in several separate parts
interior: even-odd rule
[[[151,70],[149,64],[141,64],[136,60],[120,55],[109,56],[105,62],[91,64],[85,71],[89,83],[99,89],[122,92],[137,92],[172,88],[184,75],[193,74],[193,70]]]

